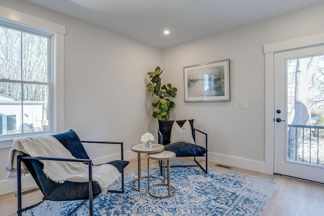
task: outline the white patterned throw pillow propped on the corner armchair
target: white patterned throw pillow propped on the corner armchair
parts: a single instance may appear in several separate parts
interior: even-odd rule
[[[181,128],[178,125],[177,121],[174,121],[171,129],[170,142],[171,143],[184,142],[184,143],[195,144],[192,138],[191,126],[188,120],[183,124]]]

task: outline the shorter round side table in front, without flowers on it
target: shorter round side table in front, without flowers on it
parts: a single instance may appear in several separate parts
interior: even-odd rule
[[[170,184],[170,159],[173,159],[176,157],[176,153],[173,151],[161,151],[159,153],[155,153],[155,154],[148,154],[147,155],[147,193],[155,198],[169,198],[173,195],[176,194],[176,188],[174,186],[172,186]],[[152,185],[150,187],[149,185],[149,179],[151,178],[149,176],[149,159],[153,159],[153,160],[163,160],[163,184],[155,184]],[[166,184],[166,168],[164,166],[165,161],[167,161],[167,173],[168,173],[168,183]],[[168,195],[165,196],[159,196],[159,195],[154,195],[151,193],[151,188],[153,187],[158,187],[158,186],[168,186]],[[173,189],[173,191],[171,192],[171,188]]]

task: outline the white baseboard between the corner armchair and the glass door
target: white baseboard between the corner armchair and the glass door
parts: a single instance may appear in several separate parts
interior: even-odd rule
[[[228,165],[232,167],[238,167],[242,169],[266,173],[266,166],[265,163],[262,161],[250,160],[246,158],[217,154],[212,152],[208,152],[208,160],[222,165]]]

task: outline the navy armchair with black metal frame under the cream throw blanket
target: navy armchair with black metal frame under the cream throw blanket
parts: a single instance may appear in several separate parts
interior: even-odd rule
[[[98,182],[92,181],[92,160],[89,158],[82,143],[101,143],[101,144],[117,144],[120,145],[120,160],[110,161],[110,164],[117,168],[121,174],[121,186],[120,190],[108,190],[108,192],[124,193],[124,168],[129,164],[129,161],[124,160],[124,144],[123,142],[110,142],[110,141],[81,141],[73,130],[62,134],[53,135],[58,141],[67,148],[74,158],[58,158],[58,157],[30,157],[29,155],[18,156],[18,210],[17,214],[21,215],[23,211],[33,208],[41,204],[45,200],[52,201],[66,201],[66,200],[84,200],[76,208],[71,210],[69,215],[72,215],[80,206],[82,206],[87,200],[89,200],[89,215],[93,215],[93,199],[95,199],[100,193],[101,188]],[[89,182],[70,182],[56,183],[49,179],[43,172],[42,160],[60,160],[60,161],[74,161],[88,164],[89,166]],[[26,208],[21,208],[21,161],[25,164],[34,181],[39,189],[42,191],[44,198],[41,202]]]

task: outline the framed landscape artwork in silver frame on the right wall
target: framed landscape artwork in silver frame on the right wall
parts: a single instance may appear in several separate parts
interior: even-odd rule
[[[229,101],[229,59],[184,70],[184,101]]]

